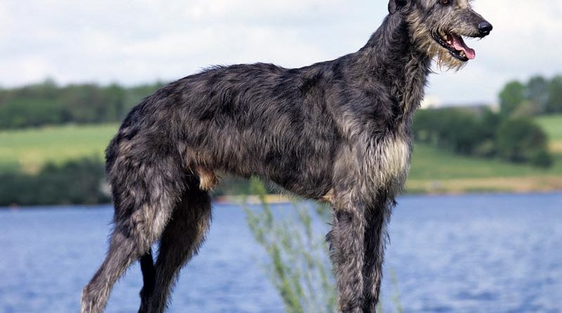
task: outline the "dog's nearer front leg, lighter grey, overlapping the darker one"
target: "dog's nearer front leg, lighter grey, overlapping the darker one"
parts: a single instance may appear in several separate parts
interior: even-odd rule
[[[327,239],[339,288],[339,308],[344,313],[360,313],[364,294],[365,206],[348,202],[333,205],[332,210],[333,226]]]

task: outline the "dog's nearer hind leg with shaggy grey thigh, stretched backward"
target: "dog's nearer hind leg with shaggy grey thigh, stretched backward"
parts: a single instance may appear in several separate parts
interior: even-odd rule
[[[155,158],[152,162],[123,158],[122,164],[115,165],[114,172],[110,172],[115,225],[107,256],[82,291],[83,313],[103,311],[117,279],[133,262],[148,253],[164,231],[185,190],[179,162],[173,162],[166,155],[154,153],[151,156]]]

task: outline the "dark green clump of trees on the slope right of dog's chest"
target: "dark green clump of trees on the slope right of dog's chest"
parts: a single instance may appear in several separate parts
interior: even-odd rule
[[[551,167],[548,138],[530,117],[503,117],[490,109],[419,110],[412,132],[417,142],[460,155],[500,158],[507,162]]]

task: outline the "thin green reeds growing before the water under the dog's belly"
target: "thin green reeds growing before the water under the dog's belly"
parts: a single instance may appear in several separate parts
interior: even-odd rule
[[[244,203],[247,224],[256,241],[266,250],[270,262],[268,276],[285,304],[287,313],[338,312],[329,250],[321,225],[313,221],[330,219],[327,205],[295,201],[289,215],[275,215],[266,201],[267,189],[251,179],[251,193],[259,198],[259,208]],[[311,210],[313,205],[313,210]],[[396,275],[391,272],[396,291],[393,312],[403,313]],[[377,312],[383,312],[379,302]]]

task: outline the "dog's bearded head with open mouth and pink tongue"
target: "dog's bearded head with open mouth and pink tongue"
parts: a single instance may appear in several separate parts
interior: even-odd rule
[[[440,67],[459,69],[476,58],[463,37],[483,38],[492,31],[492,25],[473,11],[470,1],[390,0],[388,11],[402,11],[414,44],[436,57]]]

